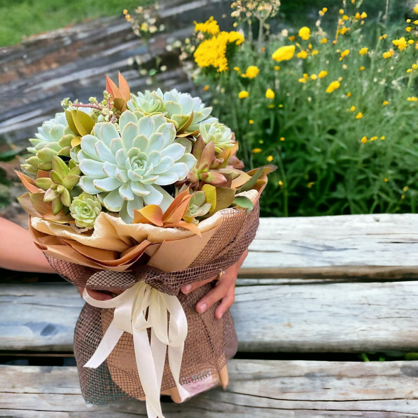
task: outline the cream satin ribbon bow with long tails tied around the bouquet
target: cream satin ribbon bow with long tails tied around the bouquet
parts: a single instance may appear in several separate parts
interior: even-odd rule
[[[190,398],[190,393],[179,382],[184,341],[187,336],[187,319],[176,296],[167,295],[145,282],[140,282],[108,301],[93,299],[86,289],[83,298],[97,308],[115,308],[109,328],[84,367],[99,367],[115,348],[122,334],[129,332],[133,334],[136,364],[146,397],[148,417],[164,418],[160,393],[167,346],[168,364],[181,400]],[[145,319],[147,309],[148,318]],[[167,312],[170,312],[169,325]],[[151,343],[148,339],[148,328],[151,328]]]

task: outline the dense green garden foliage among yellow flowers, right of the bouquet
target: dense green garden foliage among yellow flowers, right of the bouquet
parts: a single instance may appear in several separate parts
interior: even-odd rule
[[[388,28],[382,13],[380,20],[368,16],[363,25],[353,16],[364,11],[366,3],[370,1],[357,10],[347,2],[344,26],[350,30],[340,34],[335,45],[336,24],[328,34],[320,26],[311,27],[306,41],[298,30],[268,40],[247,39],[228,57],[229,70],[202,69],[196,78],[201,87],[209,87],[214,116],[234,131],[246,167],[270,161],[279,167],[270,174],[261,201],[264,216],[416,212],[418,102],[407,98],[416,94],[418,70],[406,72],[418,58],[416,33],[405,31],[408,24],[402,18]],[[336,11],[334,22],[341,17]],[[303,20],[299,24],[303,26]],[[386,33],[387,38],[380,39]],[[292,35],[295,41],[288,39]],[[414,43],[400,51],[392,41],[403,36]],[[327,43],[321,43],[322,38]],[[296,45],[290,61],[273,61],[277,48],[297,42],[307,51],[306,59],[296,57],[301,51]],[[360,55],[361,48],[368,52]],[[393,56],[383,58],[391,48]],[[340,60],[346,49],[349,55]],[[312,54],[314,50],[319,53]],[[245,73],[252,65],[260,69],[252,79],[233,69]],[[311,79],[320,71],[328,75]],[[339,79],[340,87],[326,92]],[[275,92],[273,99],[265,97],[267,89]],[[240,99],[243,90],[249,97]],[[359,112],[363,116],[356,118]]]

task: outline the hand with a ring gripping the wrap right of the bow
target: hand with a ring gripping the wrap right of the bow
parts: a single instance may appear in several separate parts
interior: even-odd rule
[[[235,300],[235,282],[237,281],[238,270],[242,266],[242,263],[244,263],[247,255],[248,250],[245,250],[240,257],[240,260],[225,270],[222,277],[217,280],[215,287],[206,293],[206,295],[201,298],[198,303],[196,303],[196,311],[199,312],[199,314],[203,313],[215,303],[222,300],[215,311],[215,318],[221,319],[222,315],[232,306],[232,303],[234,303]],[[190,283],[189,285],[183,286],[181,291],[184,294],[193,292],[206,283],[216,280],[217,277],[218,276],[214,276],[208,280]]]

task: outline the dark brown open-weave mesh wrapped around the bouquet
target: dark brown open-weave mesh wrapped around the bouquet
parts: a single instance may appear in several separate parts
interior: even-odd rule
[[[195,395],[220,383],[219,372],[227,360],[234,356],[237,337],[229,312],[220,320],[214,318],[217,305],[209,308],[204,314],[196,312],[196,303],[214,286],[213,283],[206,284],[188,295],[179,290],[186,284],[212,278],[236,263],[255,237],[259,211],[258,202],[249,214],[234,209],[223,210],[222,224],[189,268],[181,271],[166,273],[139,264],[134,265],[129,272],[115,272],[96,270],[50,256],[47,258],[57,273],[77,286],[123,291],[139,281],[145,281],[161,292],[178,295],[188,323],[180,383]],[[178,257],[181,257],[181,254],[178,254]],[[110,356],[97,369],[83,367],[97,349],[112,319],[113,309],[95,308],[86,304],[77,321],[74,353],[83,396],[90,403],[110,403],[144,396],[135,362],[133,337],[129,333],[125,332],[122,335]],[[175,387],[166,358],[161,392],[166,391],[176,400],[175,393],[173,396],[173,392],[170,391]]]

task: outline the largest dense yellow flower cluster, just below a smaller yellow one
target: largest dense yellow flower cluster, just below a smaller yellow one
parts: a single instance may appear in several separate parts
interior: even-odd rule
[[[196,48],[194,60],[201,68],[214,66],[218,72],[225,71],[228,69],[225,56],[227,45],[230,43],[240,45],[244,40],[244,36],[239,32],[220,32],[217,36],[206,39]]]

